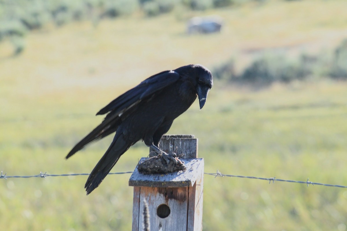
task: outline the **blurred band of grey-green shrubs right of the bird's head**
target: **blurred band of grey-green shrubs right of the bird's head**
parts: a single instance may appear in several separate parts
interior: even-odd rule
[[[217,79],[261,85],[274,81],[303,80],[313,76],[347,79],[347,39],[333,52],[302,54],[296,60],[290,60],[284,54],[267,53],[255,59],[240,74],[235,72],[233,60],[218,66],[213,72]]]

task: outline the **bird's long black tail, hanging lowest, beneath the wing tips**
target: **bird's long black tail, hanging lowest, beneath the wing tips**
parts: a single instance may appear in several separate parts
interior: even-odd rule
[[[116,133],[110,147],[96,164],[87,179],[84,186],[87,195],[100,185],[101,181],[107,176],[113,166],[115,166],[119,160],[119,157],[126,152],[132,144],[133,143],[130,143],[124,139],[123,133]]]

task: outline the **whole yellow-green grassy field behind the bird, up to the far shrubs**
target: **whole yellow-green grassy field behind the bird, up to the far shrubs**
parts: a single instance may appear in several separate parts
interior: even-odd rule
[[[319,2],[319,3],[317,3]],[[94,114],[151,74],[188,63],[213,68],[231,56],[285,47],[289,55],[333,47],[347,33],[347,2],[269,1],[205,11],[221,15],[221,34],[186,36],[198,12],[134,15],[28,34],[10,57],[0,44],[0,170],[7,175],[90,172],[100,141],[64,159],[96,126]],[[309,12],[309,14],[308,14]],[[347,83],[274,84],[259,91],[215,81],[204,108],[176,119],[170,134],[194,134],[205,172],[347,185]],[[141,142],[112,172],[132,171]],[[0,180],[3,230],[130,230],[130,175],[111,175],[85,196],[86,176]],[[204,230],[346,230],[347,189],[205,175]]]

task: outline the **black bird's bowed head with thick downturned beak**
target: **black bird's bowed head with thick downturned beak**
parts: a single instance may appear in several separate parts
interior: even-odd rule
[[[199,98],[200,109],[205,105],[207,94],[213,86],[212,73],[202,65],[194,65],[196,71],[196,92]]]

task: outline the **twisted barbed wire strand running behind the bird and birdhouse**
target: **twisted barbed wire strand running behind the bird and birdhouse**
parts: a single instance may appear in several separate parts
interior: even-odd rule
[[[128,172],[110,172],[108,175],[130,174],[130,173],[133,173],[133,171],[128,171]],[[216,173],[204,172],[204,174],[205,175],[214,176],[214,178],[216,178],[216,177],[237,177],[237,178],[266,180],[266,181],[269,181],[269,184],[271,183],[271,181],[272,181],[272,183],[274,183],[275,181],[282,181],[282,182],[288,182],[288,183],[306,184],[307,187],[308,187],[308,185],[321,185],[321,186],[327,186],[327,187],[347,188],[347,186],[344,186],[344,185],[332,185],[332,184],[323,184],[323,183],[308,181],[309,178],[307,178],[306,181],[297,181],[297,180],[276,179],[276,177],[264,178],[264,177],[254,177],[254,176],[240,176],[240,175],[222,174],[218,169],[217,169]],[[0,179],[7,180],[8,178],[32,178],[32,177],[46,178],[46,177],[58,177],[58,176],[88,176],[88,175],[90,175],[90,174],[89,173],[47,174],[47,172],[45,172],[45,173],[40,172],[40,174],[32,175],[32,176],[7,176],[6,173],[2,174],[2,171],[1,171]]]

